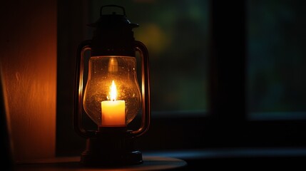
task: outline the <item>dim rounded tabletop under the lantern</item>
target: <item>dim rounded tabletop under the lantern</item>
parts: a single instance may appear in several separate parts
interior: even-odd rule
[[[80,157],[56,157],[50,159],[31,160],[19,162],[14,171],[137,171],[137,170],[173,170],[185,167],[187,162],[173,157],[143,156],[140,165],[128,165],[121,167],[85,167],[79,162]]]

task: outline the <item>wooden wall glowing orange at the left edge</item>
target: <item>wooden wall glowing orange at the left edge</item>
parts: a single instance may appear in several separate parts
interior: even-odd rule
[[[55,155],[56,1],[4,1],[0,62],[16,160]]]

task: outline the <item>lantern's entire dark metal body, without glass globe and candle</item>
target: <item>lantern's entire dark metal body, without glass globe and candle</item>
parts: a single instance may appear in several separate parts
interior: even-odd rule
[[[123,15],[102,15],[104,7],[118,7]],[[138,26],[131,24],[126,19],[126,12],[122,6],[102,6],[100,19],[90,26],[96,27],[93,40],[83,41],[78,46],[76,58],[76,75],[73,101],[73,127],[78,135],[86,138],[86,150],[81,153],[83,165],[138,165],[143,162],[142,153],[136,147],[136,139],[147,132],[151,120],[150,105],[150,79],[148,50],[140,41],[133,38],[132,28]],[[118,19],[120,18],[120,19]],[[128,36],[116,36],[113,27],[121,26],[128,30]],[[104,28],[109,30],[103,30]],[[120,28],[121,29],[121,28]],[[110,32],[112,31],[112,32]],[[106,32],[106,33],[104,33]],[[113,41],[123,37],[123,43]],[[110,44],[106,44],[110,42]],[[100,48],[101,46],[101,48]],[[111,49],[111,50],[110,50]],[[119,50],[118,50],[119,49]],[[83,78],[84,78],[84,53],[91,51],[92,56],[128,56],[135,57],[137,51],[141,56],[141,125],[137,130],[128,130],[127,126],[103,127],[98,124],[97,130],[86,130],[83,126]],[[128,123],[127,123],[128,124]]]

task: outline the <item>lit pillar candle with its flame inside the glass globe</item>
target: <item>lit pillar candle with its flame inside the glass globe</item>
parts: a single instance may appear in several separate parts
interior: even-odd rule
[[[101,102],[102,126],[126,126],[126,102],[116,100],[117,90],[114,81],[111,85],[111,100]]]

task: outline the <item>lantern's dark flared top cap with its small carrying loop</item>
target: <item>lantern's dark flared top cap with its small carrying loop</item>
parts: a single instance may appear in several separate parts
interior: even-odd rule
[[[102,9],[105,9],[105,7],[118,7],[122,9],[123,14],[116,14],[115,11],[113,11],[112,14],[102,14]],[[96,27],[96,28],[136,28],[138,27],[138,24],[131,24],[128,19],[126,19],[126,10],[123,8],[123,6],[117,6],[117,5],[106,5],[101,6],[100,9],[100,18],[98,21],[96,21],[93,24],[88,24],[88,26]]]

